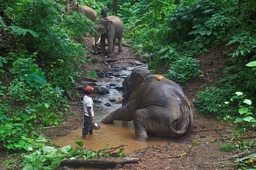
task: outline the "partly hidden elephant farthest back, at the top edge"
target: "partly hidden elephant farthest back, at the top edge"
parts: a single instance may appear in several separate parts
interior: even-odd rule
[[[76,0],[74,0],[73,3],[71,4],[67,4],[67,8],[68,8],[68,14],[73,13],[74,11],[78,11],[79,13],[83,13],[84,15],[86,15],[86,17],[88,17],[93,22],[97,18],[97,13],[95,10],[93,10],[89,6],[81,6],[77,4]]]

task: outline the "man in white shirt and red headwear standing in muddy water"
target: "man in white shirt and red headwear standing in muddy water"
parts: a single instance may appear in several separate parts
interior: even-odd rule
[[[94,112],[93,112],[93,100],[92,100],[93,87],[87,86],[85,88],[85,96],[83,98],[83,117],[84,127],[82,131],[82,138],[86,138],[86,135],[93,134],[92,125],[94,125]]]

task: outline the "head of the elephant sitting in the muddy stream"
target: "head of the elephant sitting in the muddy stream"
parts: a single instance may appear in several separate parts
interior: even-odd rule
[[[145,76],[148,74],[151,74],[148,69],[144,69],[142,67],[135,68],[132,71],[131,76],[127,76],[127,78],[125,78],[123,81],[122,85],[124,87],[124,94],[116,103],[120,103],[122,101],[124,105],[128,101],[132,92],[134,92],[138,87],[141,87],[147,83]]]

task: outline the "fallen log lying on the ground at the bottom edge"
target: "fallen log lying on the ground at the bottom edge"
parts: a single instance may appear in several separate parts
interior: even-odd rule
[[[102,159],[66,159],[62,160],[60,166],[69,166],[69,167],[84,167],[88,164],[108,164],[108,165],[117,165],[117,164],[138,164],[138,158],[102,158]]]

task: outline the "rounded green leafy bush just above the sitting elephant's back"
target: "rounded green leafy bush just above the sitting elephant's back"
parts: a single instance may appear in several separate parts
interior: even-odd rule
[[[177,83],[185,83],[191,78],[200,76],[199,61],[191,57],[180,57],[175,62],[170,64],[168,74],[164,75],[166,78]]]

